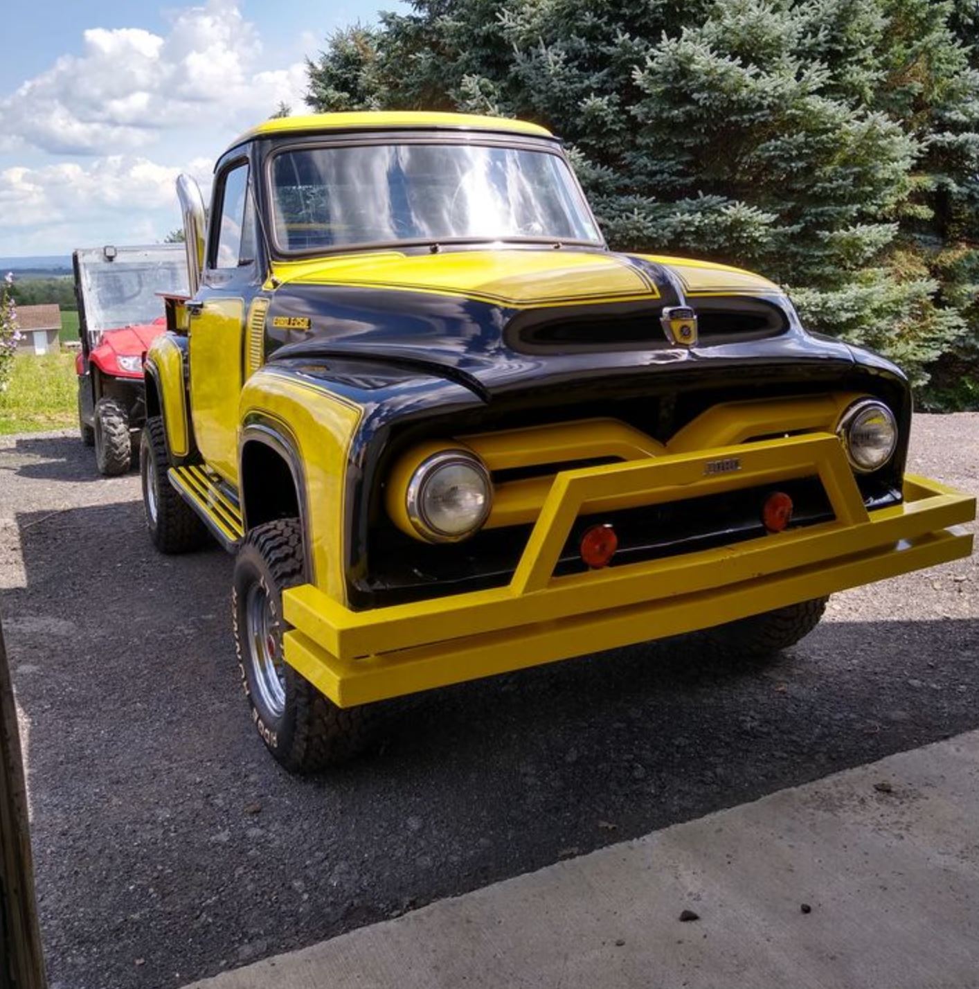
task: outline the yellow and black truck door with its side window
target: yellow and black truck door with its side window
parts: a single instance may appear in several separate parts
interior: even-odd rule
[[[188,306],[194,435],[208,466],[232,484],[238,473],[244,315],[256,278],[248,162],[239,160],[223,169],[215,183],[202,285]]]

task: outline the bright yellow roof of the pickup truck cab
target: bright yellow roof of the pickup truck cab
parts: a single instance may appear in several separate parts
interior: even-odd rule
[[[476,114],[427,113],[424,111],[365,110],[339,114],[308,114],[305,117],[275,117],[262,121],[239,135],[230,147],[253,137],[283,134],[308,134],[314,131],[392,131],[451,129],[460,131],[495,131],[502,134],[553,137],[546,128],[527,121],[505,117],[480,117]]]

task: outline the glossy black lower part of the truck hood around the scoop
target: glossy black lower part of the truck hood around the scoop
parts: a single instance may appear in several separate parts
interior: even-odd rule
[[[840,375],[854,363],[845,344],[804,332],[791,307],[777,298],[751,301],[772,311],[767,328],[713,333],[709,339],[702,334],[700,345],[690,349],[671,346],[660,316],[664,306],[679,301],[668,285],[659,299],[532,310],[429,293],[289,285],[275,294],[269,310],[269,360],[337,368],[354,362],[373,368],[376,376],[398,379],[413,370],[462,386],[483,403],[528,388],[578,387],[595,379],[638,377],[659,389],[739,367],[778,376],[794,369],[807,378]],[[682,301],[694,309],[712,307],[715,322],[725,317],[718,315],[724,300]],[[727,304],[734,315],[747,305],[736,297]],[[309,320],[310,328],[277,329],[276,316],[294,325]]]

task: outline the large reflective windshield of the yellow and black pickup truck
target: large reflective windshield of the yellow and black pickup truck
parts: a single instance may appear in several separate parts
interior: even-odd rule
[[[601,243],[565,160],[481,144],[369,144],[279,152],[276,241],[284,251],[451,240]]]

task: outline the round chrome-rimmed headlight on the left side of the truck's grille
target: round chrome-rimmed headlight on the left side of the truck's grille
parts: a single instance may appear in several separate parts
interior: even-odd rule
[[[423,460],[405,496],[411,524],[433,543],[473,535],[489,517],[491,504],[490,472],[465,450],[445,450]]]

